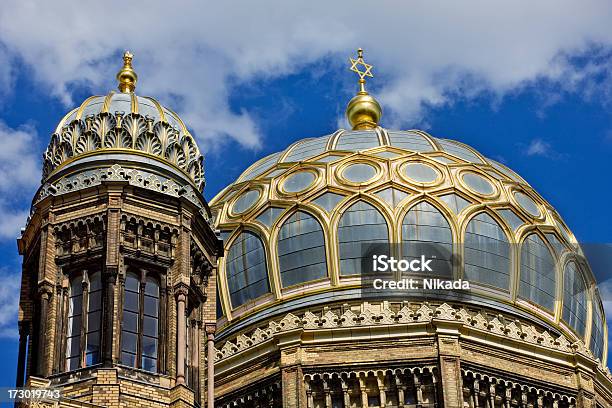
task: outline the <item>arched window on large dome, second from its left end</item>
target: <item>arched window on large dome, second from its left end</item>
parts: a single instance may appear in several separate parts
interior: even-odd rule
[[[293,214],[278,234],[278,263],[283,287],[327,276],[325,238],[310,214]]]

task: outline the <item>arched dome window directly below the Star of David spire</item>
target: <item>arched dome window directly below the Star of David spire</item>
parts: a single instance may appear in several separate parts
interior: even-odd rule
[[[382,214],[364,201],[356,202],[342,214],[338,224],[340,274],[361,274],[361,262],[367,255],[367,247],[388,242],[389,232]]]

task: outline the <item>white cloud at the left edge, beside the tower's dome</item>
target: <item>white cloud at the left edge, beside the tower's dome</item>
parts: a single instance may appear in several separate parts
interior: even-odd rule
[[[40,182],[36,133],[0,121],[0,240],[14,239],[25,225],[28,205]]]

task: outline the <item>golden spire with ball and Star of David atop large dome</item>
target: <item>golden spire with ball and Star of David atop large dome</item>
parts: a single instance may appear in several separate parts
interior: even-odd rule
[[[351,99],[346,108],[346,117],[356,129],[374,129],[382,116],[382,108],[378,101],[365,90],[366,77],[374,78],[372,65],[363,60],[363,50],[357,50],[357,58],[349,58],[351,71],[359,75],[359,92]]]

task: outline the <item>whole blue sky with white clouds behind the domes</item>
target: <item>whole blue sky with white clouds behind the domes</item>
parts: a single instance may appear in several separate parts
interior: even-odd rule
[[[115,87],[124,49],[135,54],[137,92],[174,108],[207,153],[208,198],[245,163],[344,126],[356,86],[346,60],[362,47],[383,125],[422,128],[505,162],[581,241],[605,243],[610,21],[612,3],[588,0],[3,1],[0,343],[11,346],[2,356],[16,354],[15,237],[40,155],[68,109]]]

